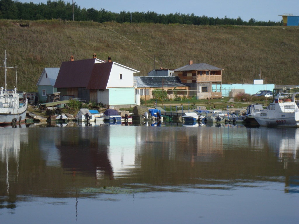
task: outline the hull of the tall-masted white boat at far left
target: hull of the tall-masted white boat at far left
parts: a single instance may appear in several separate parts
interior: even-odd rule
[[[11,124],[14,119],[16,122],[25,122],[27,105],[18,108],[0,108],[0,124]]]

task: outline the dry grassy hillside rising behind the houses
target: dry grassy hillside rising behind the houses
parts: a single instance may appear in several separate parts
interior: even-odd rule
[[[20,27],[17,24],[30,24]],[[260,68],[267,83],[299,85],[299,28],[118,24],[95,22],[0,20],[0,59],[17,66],[18,88],[36,91],[44,67],[75,60],[112,57],[139,70],[175,69],[208,63],[224,69],[223,83],[253,83]],[[3,63],[2,65],[3,66]],[[7,71],[7,88],[15,85],[15,70]],[[4,86],[4,69],[0,70]]]

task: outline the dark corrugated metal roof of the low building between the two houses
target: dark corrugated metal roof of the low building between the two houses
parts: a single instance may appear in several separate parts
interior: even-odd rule
[[[136,80],[137,88],[155,88],[162,87],[162,79],[163,79],[163,87],[186,87],[181,83],[181,80],[178,76],[135,76],[134,80]]]

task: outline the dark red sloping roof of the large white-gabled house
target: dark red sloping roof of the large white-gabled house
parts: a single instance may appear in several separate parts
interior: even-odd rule
[[[95,60],[62,62],[54,87],[106,89],[113,62],[95,63]]]

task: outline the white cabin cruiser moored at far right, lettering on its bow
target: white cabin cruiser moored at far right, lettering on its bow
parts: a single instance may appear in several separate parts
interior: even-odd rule
[[[278,94],[273,103],[263,111],[253,113],[261,126],[299,127],[299,93]]]

